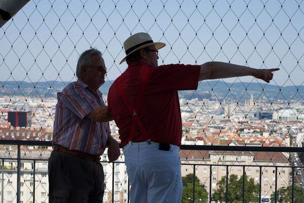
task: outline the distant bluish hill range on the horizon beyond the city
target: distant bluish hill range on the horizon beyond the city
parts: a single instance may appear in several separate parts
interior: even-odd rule
[[[103,94],[107,94],[113,81],[106,81],[100,87]],[[25,97],[54,97],[69,82],[47,81],[47,82],[21,82],[21,81],[0,81],[0,96],[25,96]],[[248,99],[250,95],[256,99],[269,98],[271,100],[304,100],[304,86],[286,86],[269,85],[264,83],[225,83],[223,81],[204,81],[200,82],[197,91],[180,91],[180,97],[189,98],[209,98],[209,99]]]

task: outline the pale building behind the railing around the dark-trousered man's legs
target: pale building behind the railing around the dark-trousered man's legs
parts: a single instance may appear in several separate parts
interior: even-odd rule
[[[52,151],[50,147],[37,149],[25,147],[21,149],[22,160],[20,167],[20,200],[21,203],[47,203],[49,202],[48,157]],[[123,153],[122,153],[123,154]],[[16,158],[16,147],[0,146],[1,158]],[[31,159],[37,160],[35,163]],[[124,163],[108,163],[106,151],[101,157],[105,192],[103,202],[125,203],[128,201],[128,176]],[[123,157],[119,161],[124,161]],[[0,202],[17,202],[17,160],[0,159]],[[114,166],[114,167],[113,167]],[[112,177],[114,174],[114,177]],[[4,201],[2,201],[2,199]]]

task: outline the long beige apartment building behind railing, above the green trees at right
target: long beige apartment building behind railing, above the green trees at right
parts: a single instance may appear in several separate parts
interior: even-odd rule
[[[279,167],[288,166],[288,155],[281,152],[237,152],[237,151],[195,151],[181,150],[181,163],[203,164],[196,166],[196,176],[209,191],[210,168],[211,173],[211,192],[213,193],[218,186],[217,182],[226,176],[226,167],[228,166],[229,175],[235,174],[238,177],[243,175],[243,166],[245,174],[259,183],[259,174],[261,170],[261,196],[269,198],[275,191],[276,166],[277,167],[277,188],[287,187],[290,183],[289,173],[291,168]],[[227,165],[227,166],[217,166]],[[260,167],[262,166],[262,167]],[[267,166],[267,167],[266,167]],[[182,165],[182,176],[194,173],[192,165]]]

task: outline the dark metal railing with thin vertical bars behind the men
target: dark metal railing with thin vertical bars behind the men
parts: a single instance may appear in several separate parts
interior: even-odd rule
[[[2,160],[2,180],[4,180],[4,162],[5,161],[12,161],[15,160],[17,161],[17,191],[16,191],[16,200],[19,203],[20,202],[20,177],[21,177],[21,161],[32,161],[32,179],[33,179],[33,191],[32,191],[32,202],[35,202],[35,175],[36,175],[36,168],[35,164],[37,161],[47,161],[45,158],[22,158],[21,157],[21,146],[52,146],[51,142],[47,141],[22,141],[22,140],[0,140],[0,145],[14,145],[17,146],[17,158],[14,157],[0,157]],[[253,147],[253,146],[198,146],[198,145],[181,145],[181,150],[222,150],[222,151],[256,151],[256,152],[304,152],[304,148],[300,147]],[[107,161],[101,161],[101,163],[107,163]],[[111,195],[111,202],[115,202],[114,199],[114,179],[115,179],[115,163],[124,163],[124,161],[116,161],[111,163],[112,167],[112,175],[111,175],[111,180],[112,180],[112,195]],[[211,187],[211,182],[212,182],[212,167],[214,166],[223,166],[226,168],[226,174],[225,174],[225,202],[229,202],[229,167],[232,167],[233,165],[228,165],[228,164],[206,164],[206,163],[181,163],[182,166],[192,166],[193,167],[193,194],[192,198],[189,197],[189,200],[196,202],[196,191],[195,191],[195,178],[196,178],[196,170],[200,166],[207,166],[209,168],[209,191],[208,191],[208,199],[209,202],[212,202],[212,187]],[[269,168],[269,167],[274,167],[275,168],[275,195],[274,195],[274,200],[277,202],[277,192],[278,192],[278,168],[291,168],[291,187],[292,187],[292,197],[291,197],[291,202],[294,202],[294,174],[296,172],[296,168],[304,168],[304,166],[289,166],[289,165],[249,165],[249,164],[238,164],[234,165],[238,167],[242,167],[243,171],[243,185],[242,185],[242,202],[247,202],[245,201],[245,177],[246,177],[246,167],[257,167],[259,168],[259,194],[258,194],[258,202],[262,202],[262,194],[261,194],[261,181],[262,181],[262,168]],[[127,194],[128,194],[128,202],[129,202],[129,189],[130,189],[130,184],[128,180],[128,189],[127,189]],[[4,201],[4,182],[2,181],[2,203]]]

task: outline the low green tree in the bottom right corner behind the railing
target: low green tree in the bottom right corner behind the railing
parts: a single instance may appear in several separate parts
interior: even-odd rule
[[[292,186],[281,187],[277,191],[277,201],[278,202],[291,202],[292,196]],[[275,193],[271,194],[271,202],[275,202]],[[298,186],[293,186],[293,202],[303,202],[304,200],[304,190]]]

